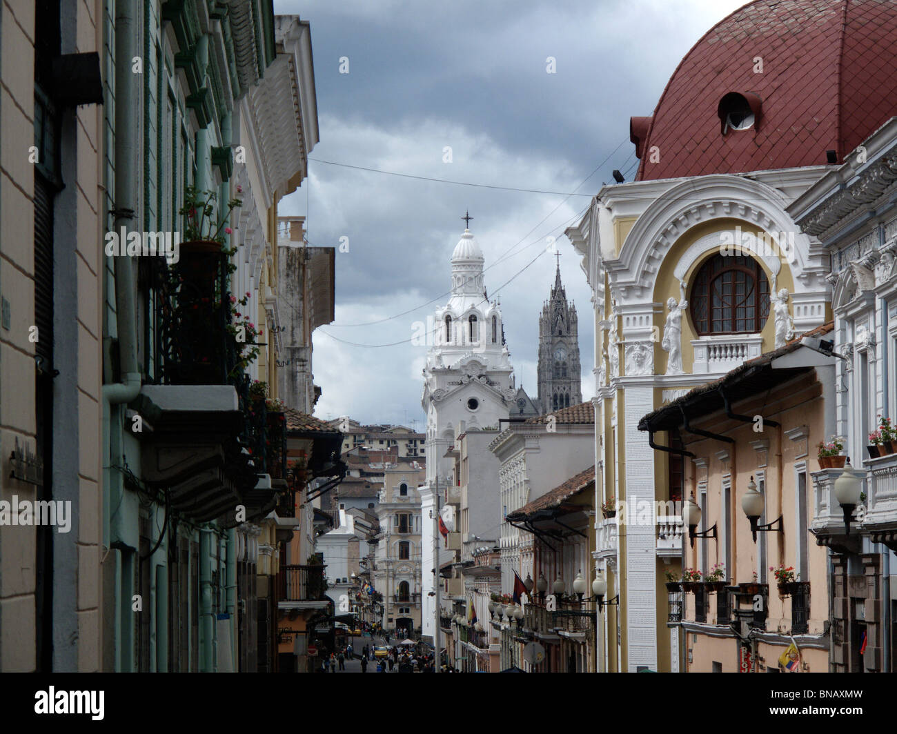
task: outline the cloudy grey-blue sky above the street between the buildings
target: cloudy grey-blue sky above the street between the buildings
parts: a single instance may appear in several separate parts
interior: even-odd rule
[[[742,4],[274,0],[275,13],[311,23],[321,138],[280,214],[307,214],[313,245],[349,244],[336,254],[336,320],[314,335],[315,415],[422,428],[426,347],[409,340],[448,300],[467,209],[517,383],[534,398],[538,316],[554,280],[546,238],[557,238],[590,398],[590,293],[562,233],[612,170],[632,179],[629,118],[653,113],[688,49]]]

